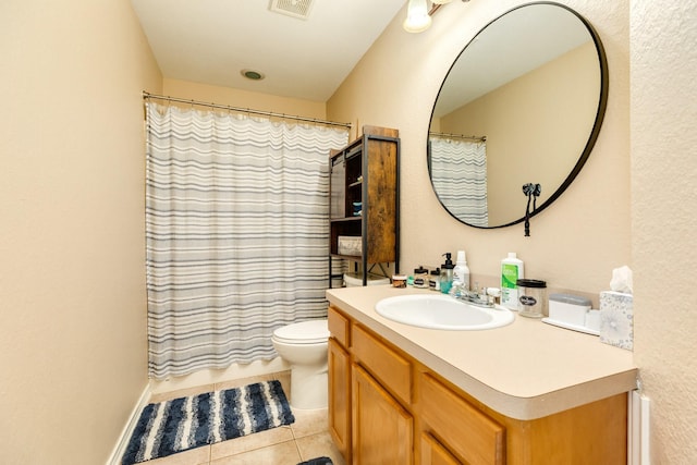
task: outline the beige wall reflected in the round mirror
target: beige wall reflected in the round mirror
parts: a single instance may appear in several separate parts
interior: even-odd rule
[[[599,93],[588,41],[440,119],[444,133],[487,137],[489,224],[523,217],[524,183],[541,184],[538,206],[562,185],[588,142]]]

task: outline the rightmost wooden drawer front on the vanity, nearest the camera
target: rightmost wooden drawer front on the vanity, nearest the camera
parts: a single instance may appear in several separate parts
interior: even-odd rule
[[[428,374],[419,406],[428,429],[468,464],[505,463],[505,429]]]

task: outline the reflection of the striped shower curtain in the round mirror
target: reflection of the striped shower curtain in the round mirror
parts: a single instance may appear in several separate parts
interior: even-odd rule
[[[431,182],[456,218],[487,227],[487,144],[440,136],[429,138]]]

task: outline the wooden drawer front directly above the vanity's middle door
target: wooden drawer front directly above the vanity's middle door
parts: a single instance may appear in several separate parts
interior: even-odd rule
[[[351,343],[358,363],[408,405],[412,401],[412,364],[359,326],[353,326]]]

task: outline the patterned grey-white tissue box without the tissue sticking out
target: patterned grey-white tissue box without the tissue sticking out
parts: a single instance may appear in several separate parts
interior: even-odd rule
[[[634,348],[634,310],[632,294],[600,293],[600,342],[632,351]]]

